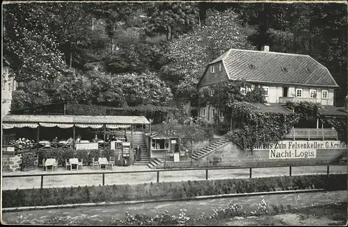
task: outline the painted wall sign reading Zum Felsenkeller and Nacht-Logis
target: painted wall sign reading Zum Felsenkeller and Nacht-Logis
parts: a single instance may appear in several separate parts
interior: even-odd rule
[[[317,158],[318,149],[346,149],[340,141],[281,141],[276,144],[256,147],[255,150],[269,150],[269,158]]]

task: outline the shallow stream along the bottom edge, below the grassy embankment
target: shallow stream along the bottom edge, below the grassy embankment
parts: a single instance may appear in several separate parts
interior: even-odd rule
[[[126,212],[133,217],[146,215],[156,217],[168,210],[169,215],[180,216],[186,209],[186,217],[212,216],[214,210],[226,208],[228,203],[242,205],[246,212],[258,210],[262,200],[266,204],[283,205],[287,209],[275,215],[248,215],[248,217],[232,217],[226,219],[205,220],[204,224],[212,225],[293,225],[289,221],[302,221],[303,224],[328,226],[341,225],[347,219],[347,190],[336,192],[313,192],[306,194],[273,194],[264,196],[241,196],[236,198],[208,199],[203,201],[177,201],[142,203],[132,205],[110,205],[104,207],[65,208],[51,210],[27,210],[6,212],[2,214],[5,224],[61,224],[61,225],[110,225],[116,219],[124,220]],[[301,210],[303,209],[303,210]],[[319,215],[319,216],[318,216]],[[336,216],[335,216],[336,215]],[[232,219],[231,219],[232,218]],[[302,219],[303,218],[303,219]],[[294,219],[294,220],[292,220]],[[278,221],[283,220],[283,221]],[[232,222],[233,223],[232,223]],[[272,222],[274,221],[274,222]],[[278,222],[277,222],[278,221]],[[302,224],[299,224],[302,225]]]

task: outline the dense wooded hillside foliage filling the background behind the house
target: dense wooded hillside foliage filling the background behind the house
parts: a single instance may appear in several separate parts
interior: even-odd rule
[[[328,67],[338,105],[347,93],[345,4],[11,3],[3,21],[3,56],[22,82],[13,108],[192,101],[208,62],[264,44]]]

